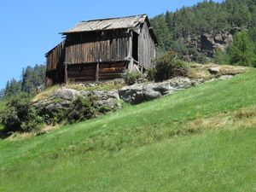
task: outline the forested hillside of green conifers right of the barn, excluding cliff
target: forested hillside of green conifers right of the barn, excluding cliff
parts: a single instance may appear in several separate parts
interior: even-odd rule
[[[195,61],[201,62],[206,61],[206,55],[201,54],[195,47],[189,47],[186,39],[203,33],[230,31],[234,27],[245,29],[241,34],[236,34],[234,44],[230,45],[226,53],[216,50],[213,59],[225,61],[227,64],[255,67],[255,0],[225,0],[223,3],[203,1],[192,7],[157,15],[151,19],[151,23],[160,39],[160,53],[172,49],[179,55],[195,55]]]

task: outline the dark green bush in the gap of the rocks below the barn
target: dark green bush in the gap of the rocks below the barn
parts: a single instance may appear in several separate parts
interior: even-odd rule
[[[69,123],[90,119],[95,113],[92,102],[89,98],[79,96],[72,104],[70,111],[67,113],[67,121]]]

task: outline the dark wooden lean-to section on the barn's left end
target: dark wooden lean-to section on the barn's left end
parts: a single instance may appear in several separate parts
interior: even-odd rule
[[[46,55],[46,77],[45,86],[64,83],[64,59],[65,59],[65,41],[55,46]]]

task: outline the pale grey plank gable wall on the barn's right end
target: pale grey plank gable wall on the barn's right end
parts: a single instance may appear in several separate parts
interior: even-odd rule
[[[145,69],[153,67],[152,59],[156,56],[156,45],[149,33],[147,22],[143,24],[138,37],[138,61]]]

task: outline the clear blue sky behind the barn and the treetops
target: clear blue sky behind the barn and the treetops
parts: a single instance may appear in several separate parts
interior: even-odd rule
[[[149,17],[202,0],[3,0],[0,4],[0,89],[20,79],[23,67],[45,63],[44,54],[79,20],[148,14]],[[222,0],[216,0],[216,2]]]

